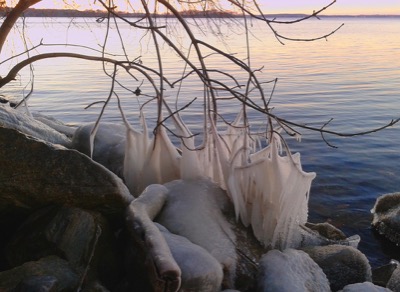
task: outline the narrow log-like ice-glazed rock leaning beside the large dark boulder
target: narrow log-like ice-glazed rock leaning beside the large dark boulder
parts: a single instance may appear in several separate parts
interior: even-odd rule
[[[127,260],[131,291],[177,291],[181,269],[161,231],[153,223],[166,201],[168,189],[150,185],[126,211],[129,236]]]

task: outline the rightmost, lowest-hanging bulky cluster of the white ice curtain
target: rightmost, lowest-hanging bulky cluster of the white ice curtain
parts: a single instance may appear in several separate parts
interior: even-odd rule
[[[280,137],[250,156],[246,165],[231,165],[228,191],[236,216],[254,235],[273,248],[296,247],[299,224],[307,221],[307,203],[314,173],[301,169],[300,156],[280,156]],[[300,208],[299,208],[300,207]]]

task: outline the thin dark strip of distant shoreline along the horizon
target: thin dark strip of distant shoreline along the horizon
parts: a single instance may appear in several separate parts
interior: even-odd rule
[[[5,15],[10,8],[3,8],[0,10],[0,15]],[[144,17],[143,13],[127,13],[118,12],[119,15],[124,17],[141,18]],[[100,10],[73,10],[73,9],[35,9],[30,8],[24,12],[25,17],[106,17],[107,12]],[[158,17],[174,17],[172,14],[158,14]],[[241,14],[234,14],[221,11],[196,11],[190,13],[182,13],[184,17],[194,17],[194,18],[242,18]],[[308,16],[307,14],[266,14],[269,19],[273,18],[303,18]],[[361,14],[361,15],[318,15],[319,18],[332,18],[332,17],[342,17],[342,18],[400,18],[400,15],[383,15],[383,14]]]

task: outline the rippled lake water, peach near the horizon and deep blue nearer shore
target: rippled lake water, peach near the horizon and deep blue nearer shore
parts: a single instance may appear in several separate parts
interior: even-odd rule
[[[197,20],[196,25],[205,24]],[[245,60],[245,33],[242,21],[226,19],[210,20],[212,24],[196,30],[199,38],[235,53]],[[240,22],[240,23],[238,23]],[[359,132],[383,126],[400,117],[400,18],[323,18],[295,25],[280,25],[276,29],[287,36],[317,37],[329,33],[337,26],[344,26],[327,40],[316,42],[289,42],[280,44],[266,26],[251,23],[252,67],[263,67],[259,78],[268,81],[278,78],[271,106],[273,113],[282,118],[322,127],[337,132]],[[26,20],[25,32],[30,36],[28,46],[45,44],[80,44],[100,49],[104,42],[105,23],[95,19],[31,18]],[[176,37],[182,50],[188,41],[176,22],[168,20],[168,33]],[[140,56],[144,65],[157,68],[154,46],[148,35],[120,26],[126,51],[133,60]],[[22,26],[14,31],[3,58],[10,52],[20,52],[19,41]],[[109,32],[107,51],[122,53],[119,35],[115,27]],[[222,39],[224,37],[224,39]],[[182,74],[184,64],[171,49],[160,44],[165,73],[170,80]],[[90,52],[84,48],[66,46],[41,46],[39,52],[52,50]],[[32,52],[33,53],[33,52]],[[193,54],[193,52],[192,52]],[[20,58],[22,59],[22,57]],[[210,55],[206,58],[210,68],[225,69],[238,79],[241,73],[226,59]],[[195,62],[195,61],[194,61]],[[12,61],[15,63],[15,61]],[[3,76],[9,64],[2,64]],[[95,121],[100,106],[84,107],[96,101],[104,101],[109,93],[110,78],[105,76],[100,63],[83,60],[51,59],[34,64],[34,93],[31,95],[32,111],[52,115],[66,123],[79,124]],[[107,67],[110,71],[111,67]],[[29,90],[29,71],[21,71],[17,81],[2,89],[8,98],[19,99]],[[140,87],[142,93],[153,96],[148,83],[142,84],[143,76],[135,72],[138,80],[128,78],[121,70],[119,80],[133,89]],[[226,76],[219,76],[227,81]],[[158,82],[156,80],[156,82]],[[245,84],[245,83],[242,83]],[[272,88],[266,84],[266,93]],[[123,88],[116,88],[126,114],[137,124],[138,108],[150,97],[137,98]],[[165,97],[172,104],[177,89],[166,89]],[[180,107],[198,97],[193,105],[182,112],[185,122],[194,132],[202,124],[202,87],[195,78],[188,78],[180,91]],[[221,98],[224,99],[222,94]],[[226,119],[232,119],[237,104],[225,98],[220,111]],[[154,125],[154,102],[145,107],[150,125]],[[250,113],[255,121],[253,127],[261,128],[265,118]],[[104,120],[119,122],[120,114],[113,99],[106,110]],[[329,147],[316,132],[300,130],[301,143],[288,138],[290,147],[302,155],[303,168],[317,173],[311,189],[309,221],[329,221],[347,235],[361,236],[360,250],[369,258],[372,266],[386,264],[391,258],[400,260],[400,248],[388,244],[376,236],[371,228],[371,213],[378,196],[400,191],[400,125],[382,132],[353,138],[326,135],[326,140],[338,147]]]

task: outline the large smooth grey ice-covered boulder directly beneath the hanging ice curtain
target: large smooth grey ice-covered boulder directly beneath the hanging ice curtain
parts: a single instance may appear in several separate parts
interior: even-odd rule
[[[176,180],[165,186],[167,202],[156,221],[207,250],[223,266],[226,288],[234,287],[236,236],[223,215],[231,206],[226,193],[208,179]]]

